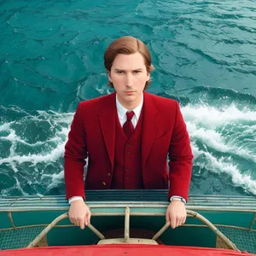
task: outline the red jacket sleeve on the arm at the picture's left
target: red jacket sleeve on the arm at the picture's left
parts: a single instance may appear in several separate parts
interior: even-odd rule
[[[64,153],[66,198],[84,195],[84,165],[87,158],[86,138],[81,118],[81,103],[73,117]]]

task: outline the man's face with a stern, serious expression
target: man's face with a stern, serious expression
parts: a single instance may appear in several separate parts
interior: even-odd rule
[[[113,83],[118,100],[123,105],[137,105],[141,102],[149,76],[143,55],[138,52],[132,55],[117,55],[111,71],[108,72],[108,79]]]

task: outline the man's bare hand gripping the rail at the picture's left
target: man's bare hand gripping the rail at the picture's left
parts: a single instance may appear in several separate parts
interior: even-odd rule
[[[84,225],[88,226],[90,224],[90,210],[82,200],[71,203],[68,217],[72,224],[80,226],[82,230],[84,230]]]

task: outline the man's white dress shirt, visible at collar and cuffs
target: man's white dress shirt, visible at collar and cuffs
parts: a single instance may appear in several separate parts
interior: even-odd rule
[[[127,119],[126,112],[131,112],[131,110],[128,110],[123,105],[121,105],[117,96],[116,96],[116,108],[117,108],[117,112],[118,112],[118,116],[119,116],[120,125],[123,127],[123,125],[125,124],[125,121]],[[142,108],[143,108],[143,98],[142,98],[142,102],[140,102],[139,105],[136,108],[132,109],[132,111],[134,112],[134,115],[131,119],[131,123],[132,123],[134,128],[137,125],[138,119],[139,119],[140,114],[142,112]],[[178,200],[178,198],[181,198],[181,197],[177,196],[177,195],[174,195],[174,198],[172,196],[170,200],[171,201],[172,201],[172,199],[173,200]],[[83,200],[83,197],[82,196],[73,196],[68,200],[68,202],[70,204],[72,201],[77,201],[77,200]]]

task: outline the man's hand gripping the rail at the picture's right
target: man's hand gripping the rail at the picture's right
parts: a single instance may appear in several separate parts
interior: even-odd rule
[[[187,212],[182,201],[173,200],[166,210],[166,223],[170,222],[172,229],[185,223]]]

